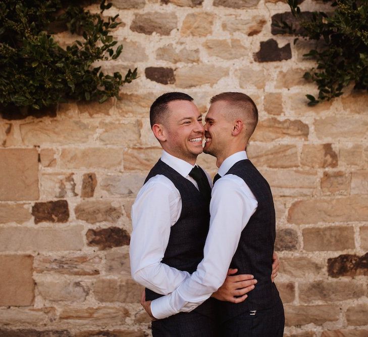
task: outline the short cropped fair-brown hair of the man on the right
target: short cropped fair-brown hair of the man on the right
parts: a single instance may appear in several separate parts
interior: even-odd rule
[[[214,96],[209,103],[228,102],[231,108],[227,111],[228,118],[242,117],[247,124],[246,135],[249,138],[258,122],[258,110],[253,100],[242,92],[222,92]]]

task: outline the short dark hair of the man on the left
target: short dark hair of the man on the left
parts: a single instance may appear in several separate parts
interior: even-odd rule
[[[149,121],[151,127],[156,123],[163,123],[169,111],[168,103],[172,101],[193,101],[193,99],[183,92],[167,92],[157,98],[149,109]]]

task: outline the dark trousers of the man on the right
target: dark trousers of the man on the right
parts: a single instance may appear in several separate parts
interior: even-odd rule
[[[281,300],[267,310],[244,312],[221,324],[222,337],[282,337],[285,316]]]

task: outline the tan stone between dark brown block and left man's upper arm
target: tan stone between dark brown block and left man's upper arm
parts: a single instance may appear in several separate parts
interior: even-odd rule
[[[122,216],[122,209],[119,204],[100,200],[81,202],[76,206],[74,212],[78,220],[84,220],[92,224],[102,221],[116,223]]]

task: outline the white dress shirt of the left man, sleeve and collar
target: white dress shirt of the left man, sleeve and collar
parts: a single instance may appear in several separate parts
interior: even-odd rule
[[[191,181],[193,165],[163,151],[161,160]],[[212,186],[212,181],[206,173]],[[174,183],[162,174],[151,177],[139,190],[132,206],[130,239],[132,278],[155,293],[172,293],[190,274],[161,263],[169,242],[171,226],[179,219],[182,202]]]

